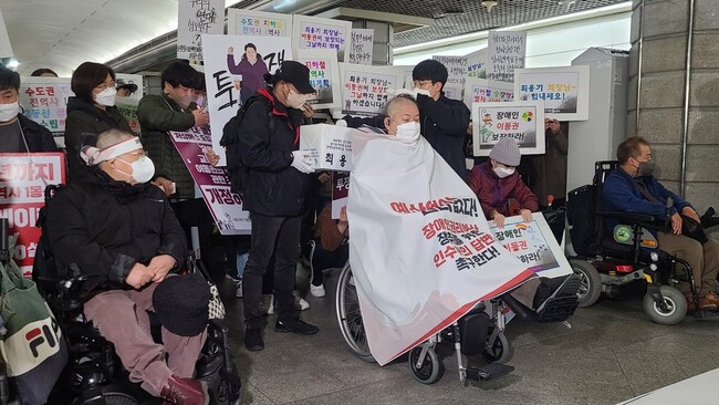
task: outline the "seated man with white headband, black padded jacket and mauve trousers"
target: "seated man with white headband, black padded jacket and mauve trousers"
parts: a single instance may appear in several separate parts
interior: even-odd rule
[[[192,375],[207,319],[181,334],[163,326],[163,344],[150,335],[153,292],[187,253],[167,198],[148,183],[153,162],[139,138],[121,129],[101,133],[82,158],[87,166],[81,176],[48,204],[58,268],[73,272],[69,277],[90,277],[84,314],[114,344],[132,382],[169,403],[204,404],[206,394]],[[185,304],[177,302],[176,311]]]

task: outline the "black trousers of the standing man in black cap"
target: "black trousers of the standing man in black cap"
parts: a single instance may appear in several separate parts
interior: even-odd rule
[[[298,318],[294,310],[294,272],[300,245],[302,217],[267,217],[250,214],[252,220],[252,243],[250,257],[242,277],[242,295],[244,301],[244,324],[247,328],[260,328],[260,295],[262,294],[262,276],[271,266],[274,255],[274,298],[278,320]]]

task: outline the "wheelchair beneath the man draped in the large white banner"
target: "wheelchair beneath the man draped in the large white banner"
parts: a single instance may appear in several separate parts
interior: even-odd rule
[[[504,364],[510,356],[510,344],[504,329],[512,318],[533,322],[565,322],[569,325],[566,320],[577,308],[580,278],[576,274],[552,279],[549,283],[553,284],[549,287],[551,293],[538,291],[535,294],[535,310],[527,308],[510,293],[506,293],[479,302],[451,326],[411,349],[408,362],[415,378],[423,384],[433,384],[441,377],[444,365],[437,355],[436,346],[442,341],[454,344],[462,383],[466,380],[488,381],[512,372],[514,367]],[[348,262],[337,280],[335,303],[337,322],[350,349],[359,359],[375,362],[364,332],[362,311]],[[488,364],[465,366],[462,356],[481,356]]]

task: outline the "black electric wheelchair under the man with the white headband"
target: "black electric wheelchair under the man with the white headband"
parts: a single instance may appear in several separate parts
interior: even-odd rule
[[[60,186],[48,186],[45,202]],[[44,225],[46,211],[41,209],[38,225]],[[83,314],[83,302],[96,284],[93,277],[79,276],[72,266],[59,271],[55,268],[48,238],[38,243],[33,280],[55,315],[70,347],[70,360],[49,398],[49,404],[73,405],[131,405],[159,404],[139,384],[129,382],[128,373],[114,346],[106,341]],[[210,280],[207,270],[192,256],[188,258],[187,271],[198,272]],[[161,341],[160,323],[150,315],[153,339]],[[230,359],[229,329],[222,321],[212,319],[208,336],[196,363],[195,377],[207,386],[210,404],[239,403],[241,382]]]

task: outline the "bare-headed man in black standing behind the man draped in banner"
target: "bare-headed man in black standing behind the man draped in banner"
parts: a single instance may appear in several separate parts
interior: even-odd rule
[[[465,143],[470,114],[463,102],[445,96],[442,89],[447,76],[447,68],[431,59],[419,62],[411,71],[421,134],[459,177],[465,179]]]

